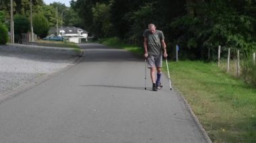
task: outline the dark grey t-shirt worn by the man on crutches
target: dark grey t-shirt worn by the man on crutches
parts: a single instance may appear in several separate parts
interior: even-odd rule
[[[160,30],[156,30],[154,34],[150,30],[145,30],[143,37],[148,42],[148,54],[152,56],[162,55],[162,44],[161,41],[164,39],[164,34]]]

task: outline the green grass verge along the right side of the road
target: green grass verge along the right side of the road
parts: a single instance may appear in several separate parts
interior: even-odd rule
[[[119,42],[110,39],[102,44],[143,54],[142,48]],[[256,142],[255,88],[216,63],[179,61],[168,66],[174,88],[188,101],[212,142]]]

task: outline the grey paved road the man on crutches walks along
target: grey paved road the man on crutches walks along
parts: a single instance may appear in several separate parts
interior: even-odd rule
[[[79,64],[0,102],[1,143],[207,142],[177,91],[144,90],[144,62],[83,44]],[[149,72],[148,72],[149,73]]]

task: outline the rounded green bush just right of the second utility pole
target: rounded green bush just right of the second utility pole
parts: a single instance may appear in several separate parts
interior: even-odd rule
[[[48,35],[50,29],[49,22],[44,15],[38,13],[33,16],[33,28],[34,33],[40,38],[44,38]]]

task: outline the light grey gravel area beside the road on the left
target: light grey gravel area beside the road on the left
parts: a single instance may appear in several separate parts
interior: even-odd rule
[[[73,66],[81,56],[71,48],[0,45],[0,97]]]

